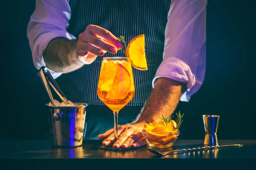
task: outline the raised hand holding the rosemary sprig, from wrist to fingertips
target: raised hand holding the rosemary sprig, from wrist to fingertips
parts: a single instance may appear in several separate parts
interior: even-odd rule
[[[106,52],[116,54],[121,48],[121,42],[110,31],[89,25],[79,34],[76,55],[83,64],[90,64],[97,56],[103,56]]]

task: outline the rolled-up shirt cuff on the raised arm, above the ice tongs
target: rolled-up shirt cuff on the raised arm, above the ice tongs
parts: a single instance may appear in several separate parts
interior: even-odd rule
[[[44,62],[44,51],[45,51],[47,45],[49,44],[49,42],[51,40],[53,40],[54,38],[58,38],[58,37],[64,37],[69,40],[76,39],[76,37],[74,37],[72,34],[70,34],[69,32],[67,32],[65,30],[56,30],[56,31],[51,31],[51,32],[41,34],[38,37],[38,39],[36,40],[34,48],[33,48],[33,52],[32,52],[33,62],[34,62],[35,67],[38,70],[42,66],[47,67]],[[48,70],[54,79],[58,78],[59,76],[61,76],[61,74],[63,74],[62,72],[52,71],[49,68],[48,68]]]

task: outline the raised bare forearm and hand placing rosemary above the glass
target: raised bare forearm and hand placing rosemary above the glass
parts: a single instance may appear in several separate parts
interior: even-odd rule
[[[99,26],[89,25],[79,34],[78,40],[58,37],[49,42],[44,60],[49,69],[69,73],[91,64],[97,56],[107,51],[115,54],[122,48],[121,42],[113,34]]]

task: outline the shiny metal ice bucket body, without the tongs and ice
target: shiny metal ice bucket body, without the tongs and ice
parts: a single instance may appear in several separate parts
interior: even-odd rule
[[[54,146],[81,146],[84,136],[86,103],[74,103],[74,106],[47,106],[49,126]]]

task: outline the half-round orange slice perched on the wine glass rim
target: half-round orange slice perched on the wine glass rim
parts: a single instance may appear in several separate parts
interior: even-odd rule
[[[131,65],[138,70],[148,70],[145,55],[144,34],[134,37],[126,48],[127,57],[131,60]]]

